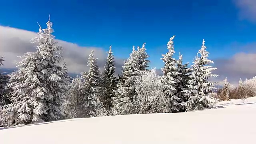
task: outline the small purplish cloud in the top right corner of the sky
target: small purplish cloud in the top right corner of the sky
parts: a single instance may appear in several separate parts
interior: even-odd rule
[[[234,0],[239,9],[239,18],[256,22],[256,0]]]

